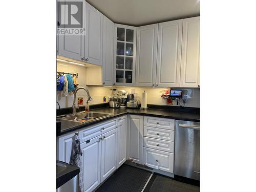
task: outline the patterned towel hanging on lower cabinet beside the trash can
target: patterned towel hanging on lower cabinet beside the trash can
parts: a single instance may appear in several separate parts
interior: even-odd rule
[[[80,147],[80,140],[77,134],[75,134],[73,147],[72,147],[72,156],[71,156],[71,164],[79,167],[80,172],[78,175],[79,179],[79,188],[80,192],[83,192],[83,179],[82,179],[82,151]]]

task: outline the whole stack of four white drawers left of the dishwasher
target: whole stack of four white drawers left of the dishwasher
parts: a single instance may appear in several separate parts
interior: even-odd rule
[[[174,172],[175,120],[144,116],[143,163],[149,167]]]

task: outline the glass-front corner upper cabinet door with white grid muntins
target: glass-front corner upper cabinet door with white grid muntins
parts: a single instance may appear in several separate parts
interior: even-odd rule
[[[115,24],[114,85],[135,86],[137,28]]]

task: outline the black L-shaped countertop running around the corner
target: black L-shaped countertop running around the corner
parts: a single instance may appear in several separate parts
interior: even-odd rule
[[[163,118],[170,118],[170,119],[177,119],[177,120],[200,122],[199,110],[191,110],[191,109],[173,110],[173,109],[166,109],[166,108],[160,109],[159,107],[156,107],[156,106],[154,108],[154,106],[151,106],[147,110],[140,110],[140,109],[127,109],[127,108],[113,109],[113,108],[109,108],[108,106],[105,106],[103,108],[93,109],[90,111],[99,112],[99,113],[109,113],[111,115],[101,119],[88,121],[87,123],[73,122],[73,121],[67,121],[67,120],[57,118],[57,121],[60,122],[60,124],[58,124],[57,126],[57,136],[66,134],[68,132],[71,132],[77,129],[81,129],[82,127],[87,127],[92,124],[99,123],[101,121],[116,118],[124,114],[145,115],[145,116],[154,116],[154,117],[163,117]]]

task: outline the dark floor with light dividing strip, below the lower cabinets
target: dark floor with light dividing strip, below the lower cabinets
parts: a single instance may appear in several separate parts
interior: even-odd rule
[[[141,192],[151,172],[123,164],[97,192]],[[199,192],[200,187],[154,174],[143,192]]]

